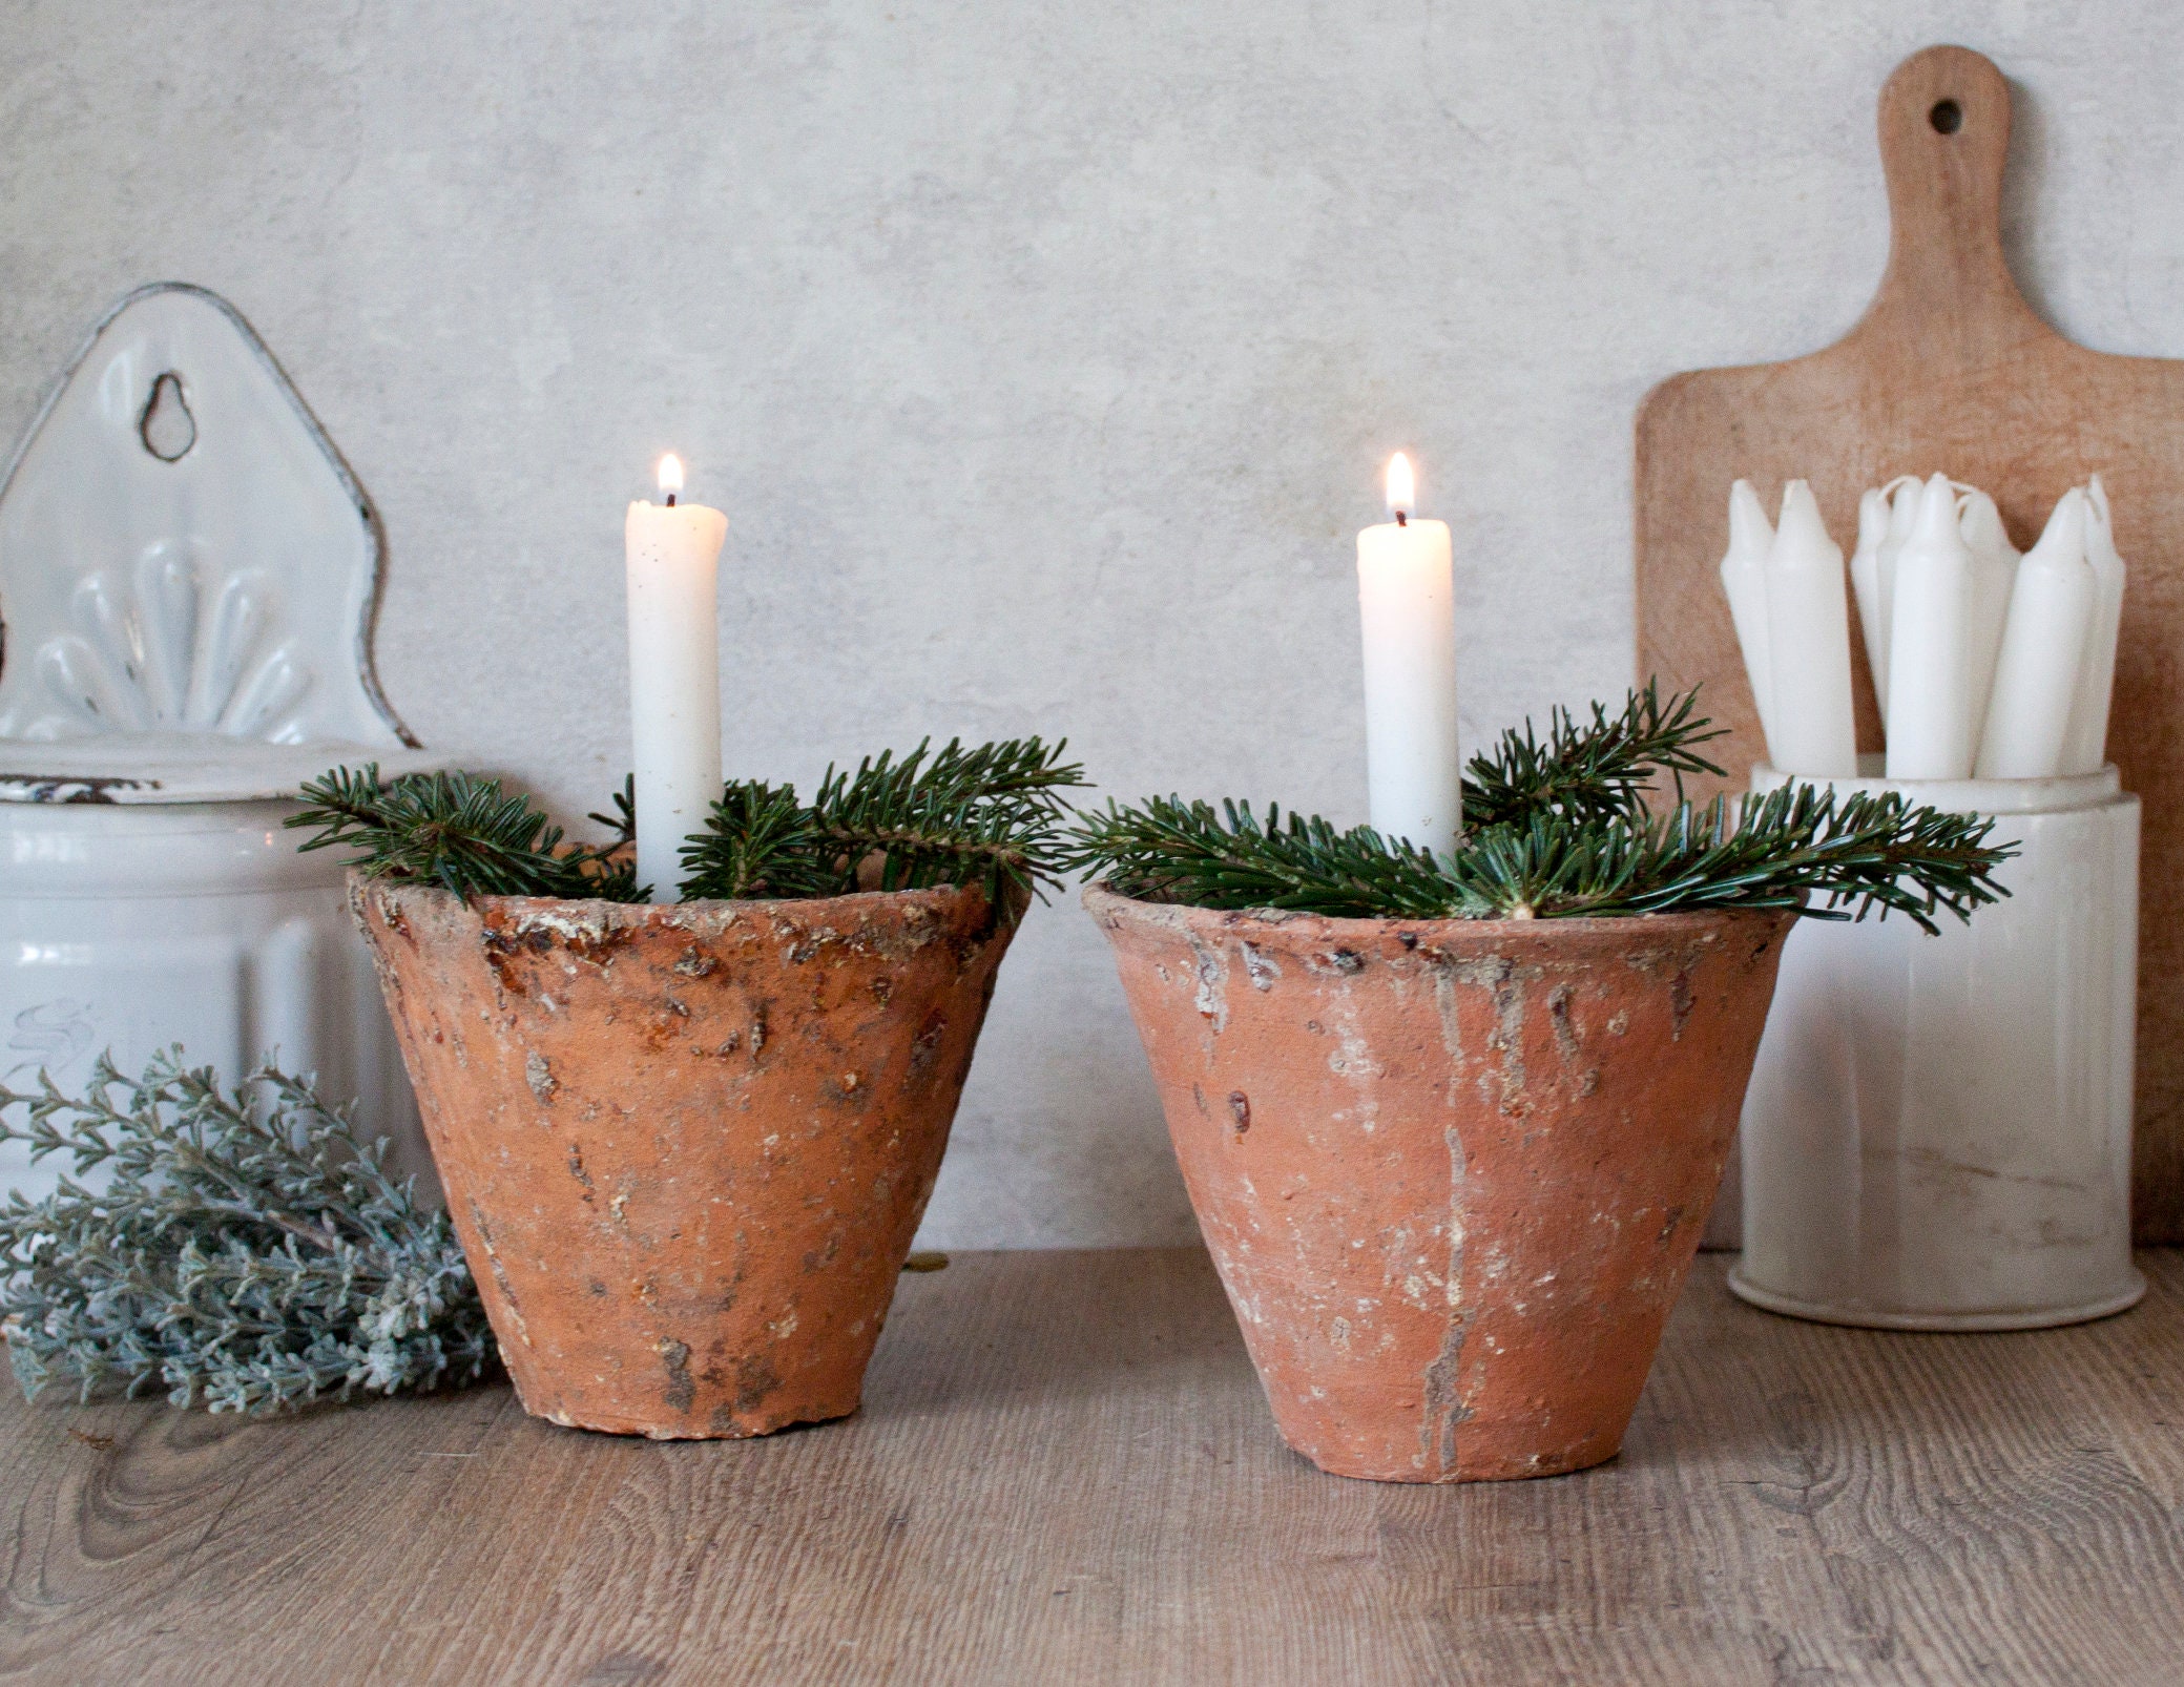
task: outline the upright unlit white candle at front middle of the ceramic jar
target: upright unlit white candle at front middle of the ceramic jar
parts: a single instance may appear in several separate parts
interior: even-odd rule
[[[1889,627],[1891,780],[1961,780],[1979,750],[1972,721],[1972,551],[1957,489],[1935,474],[1896,557]]]

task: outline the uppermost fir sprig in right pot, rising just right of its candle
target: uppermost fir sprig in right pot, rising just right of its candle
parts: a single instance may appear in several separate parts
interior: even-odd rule
[[[1629,693],[1614,719],[1594,704],[1592,719],[1579,725],[1566,708],[1555,708],[1546,743],[1533,736],[1527,719],[1522,728],[1503,732],[1492,752],[1472,756],[1463,776],[1463,824],[1483,830],[1535,813],[1634,817],[1645,811],[1660,774],[1671,776],[1682,802],[1686,774],[1723,771],[1695,750],[1725,734],[1695,712],[1697,701],[1697,686],[1664,704],[1655,684],[1647,682],[1645,691]]]

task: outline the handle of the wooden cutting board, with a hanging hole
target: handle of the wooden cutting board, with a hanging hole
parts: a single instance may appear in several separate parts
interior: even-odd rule
[[[2009,83],[1963,46],[1913,52],[1880,90],[1889,267],[1859,330],[1933,337],[1933,352],[1990,354],[1994,339],[2051,332],[2003,260]]]

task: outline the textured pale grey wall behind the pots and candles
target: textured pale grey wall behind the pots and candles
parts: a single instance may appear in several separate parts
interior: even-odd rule
[[[2184,350],[2171,0],[13,0],[0,435],[203,282],[387,520],[380,675],[581,815],[627,760],[622,503],[729,511],[729,767],[1066,732],[1116,793],[1363,815],[1352,531],[1457,533],[1465,739],[1629,677],[1629,424],[1787,356],[1887,243],[1874,94],[2018,90],[2011,251]],[[1011,957],[926,1235],[1188,1208],[1090,922]]]

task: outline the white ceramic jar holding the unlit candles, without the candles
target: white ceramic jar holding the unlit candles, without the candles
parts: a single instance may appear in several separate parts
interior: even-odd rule
[[[1994,815],[2020,852],[1996,874],[2009,898],[1937,937],[1902,916],[1791,933],[1745,1093],[1730,1287],[1880,1329],[2129,1307],[2138,798],[2114,767],[1832,784]]]

